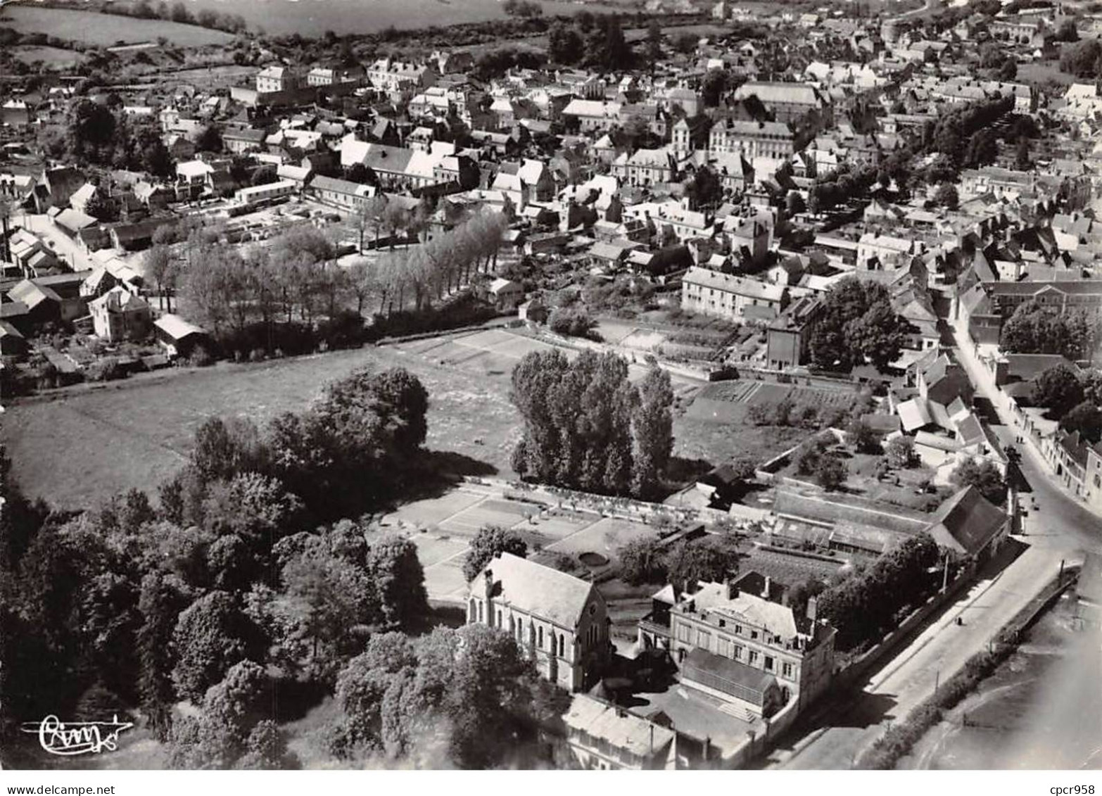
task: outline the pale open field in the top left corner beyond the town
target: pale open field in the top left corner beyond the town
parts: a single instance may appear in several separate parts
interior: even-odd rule
[[[155,42],[159,36],[164,36],[182,47],[226,44],[234,40],[229,33],[197,25],[35,6],[6,7],[0,12],[0,25],[12,28],[20,33],[47,33],[58,39],[104,47],[120,42],[127,44]]]

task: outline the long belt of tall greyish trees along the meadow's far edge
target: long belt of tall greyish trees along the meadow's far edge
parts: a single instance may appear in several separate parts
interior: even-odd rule
[[[423,232],[424,217],[378,202],[357,213],[352,225],[361,239],[370,232],[393,240],[398,230]],[[179,289],[194,320],[227,354],[300,354],[363,340],[363,315],[374,302],[377,313],[389,316],[412,299],[413,312],[426,314],[432,298],[490,268],[504,225],[499,214],[478,214],[421,245],[348,266],[336,262],[334,234],[307,224],[244,251],[222,245],[215,226],[165,227],[144,258],[159,293],[171,304]],[[386,325],[380,320],[377,314],[379,329]]]

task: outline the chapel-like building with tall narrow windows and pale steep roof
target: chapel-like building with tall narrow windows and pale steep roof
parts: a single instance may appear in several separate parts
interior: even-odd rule
[[[507,552],[471,581],[467,624],[507,631],[568,691],[596,685],[612,656],[608,607],[593,583]]]

